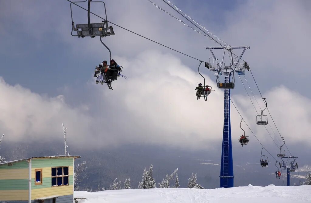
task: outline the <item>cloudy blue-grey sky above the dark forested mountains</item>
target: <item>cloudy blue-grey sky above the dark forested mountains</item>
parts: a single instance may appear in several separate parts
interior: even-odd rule
[[[153,0],[181,17],[163,1]],[[250,46],[243,56],[292,153],[309,148],[311,124],[309,78],[310,1],[174,1],[197,22],[231,46]],[[81,4],[87,7],[87,4]],[[167,46],[207,61],[206,46],[217,46],[147,0],[107,1],[111,22]],[[113,147],[148,143],[191,150],[220,146],[223,128],[223,91],[206,69],[213,91],[208,102],[195,96],[199,62],[114,26],[115,36],[103,39],[123,74],[111,91],[96,85],[95,65],[109,59],[98,37],[70,35],[69,2],[0,0],[0,133],[7,140],[62,138],[79,146]],[[100,5],[92,11],[104,16]],[[87,13],[73,10],[75,23],[86,23]],[[91,22],[100,22],[91,17]],[[263,102],[249,72],[241,77],[255,105]],[[256,111],[236,75],[231,98],[258,139],[273,154],[281,143],[271,118],[256,125]],[[231,106],[232,140],[242,130]],[[267,114],[267,112],[265,112]],[[256,150],[261,145],[244,124]],[[70,138],[71,137],[71,138]],[[272,140],[273,139],[273,140]],[[274,143],[275,142],[275,143]],[[238,144],[234,146],[240,147]]]

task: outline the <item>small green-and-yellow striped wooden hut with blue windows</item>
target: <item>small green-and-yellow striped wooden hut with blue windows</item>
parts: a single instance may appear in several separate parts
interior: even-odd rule
[[[0,163],[0,202],[72,203],[75,158],[80,156],[32,157]]]

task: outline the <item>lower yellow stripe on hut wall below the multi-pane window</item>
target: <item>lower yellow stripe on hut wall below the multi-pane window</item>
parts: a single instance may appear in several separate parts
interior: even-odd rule
[[[49,188],[40,188],[31,190],[31,199],[35,200],[40,197],[46,196],[63,196],[63,195],[72,195],[73,194],[73,186],[58,186],[58,187],[49,187]]]

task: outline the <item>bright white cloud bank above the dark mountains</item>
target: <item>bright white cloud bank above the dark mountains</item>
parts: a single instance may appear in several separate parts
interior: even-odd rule
[[[65,123],[68,144],[75,146],[146,143],[199,150],[220,144],[223,91],[216,89],[214,79],[205,75],[206,84],[216,89],[205,102],[196,99],[194,90],[197,82],[203,82],[202,77],[173,55],[145,51],[136,58],[115,59],[123,65],[122,73],[129,79],[119,78],[112,85],[114,90],[109,90],[106,85],[95,85],[91,78],[79,87],[85,93],[81,95],[80,91],[80,95],[75,95],[84,101],[77,107],[66,103],[70,94],[48,97],[20,85],[8,85],[1,79],[2,133],[8,140],[61,140],[61,124]],[[205,71],[202,70],[207,73]],[[310,100],[284,86],[266,95],[273,98],[268,99],[269,110],[286,141],[309,143],[304,135],[310,131]],[[233,94],[232,99],[262,143],[271,144],[264,128],[256,125],[256,114],[248,97]],[[289,117],[290,120],[284,120]],[[240,117],[232,106],[232,140],[236,143],[241,134],[239,122]],[[252,138],[252,144],[258,145],[246,127],[244,129]]]

